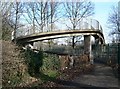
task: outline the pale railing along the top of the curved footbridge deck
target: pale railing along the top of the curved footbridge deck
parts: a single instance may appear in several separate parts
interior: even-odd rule
[[[65,29],[68,30],[68,29]],[[70,30],[70,29],[69,29]],[[102,32],[102,27],[99,24],[99,22],[95,19],[83,19],[79,25],[77,26],[77,29],[75,30],[95,30],[95,31],[100,31]],[[54,29],[50,31],[48,27],[43,28],[43,32],[59,32],[60,30]],[[22,37],[22,36],[27,36],[27,35],[32,35],[36,33],[43,33],[41,29],[35,28],[35,31],[33,31],[31,26],[23,26],[19,29],[16,30],[16,38],[17,37]]]

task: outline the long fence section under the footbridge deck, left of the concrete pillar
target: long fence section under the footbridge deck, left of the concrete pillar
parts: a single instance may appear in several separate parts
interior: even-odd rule
[[[56,53],[56,54],[69,54],[69,55],[80,55],[84,52],[83,46],[76,46],[74,49],[69,45],[55,45],[47,43],[36,43],[36,49],[42,49],[43,51]]]

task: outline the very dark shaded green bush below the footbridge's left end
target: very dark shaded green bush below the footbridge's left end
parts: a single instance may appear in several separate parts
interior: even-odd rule
[[[34,52],[33,50],[27,49],[25,51],[25,59],[28,65],[28,73],[31,76],[39,74],[39,69],[43,65],[43,52]]]

